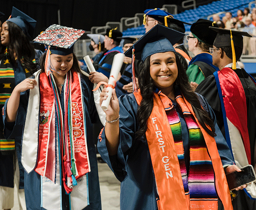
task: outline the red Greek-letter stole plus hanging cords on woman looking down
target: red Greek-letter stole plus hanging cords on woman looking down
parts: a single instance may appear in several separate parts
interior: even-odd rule
[[[47,77],[45,72],[40,74],[38,159],[35,171],[55,182],[56,155],[58,155],[56,147],[59,144],[62,183],[66,192],[70,193],[72,184],[76,185],[76,180],[90,172],[90,162],[86,142],[81,80],[77,72],[69,71],[67,73],[62,88],[64,88],[65,110],[61,109],[53,76]]]

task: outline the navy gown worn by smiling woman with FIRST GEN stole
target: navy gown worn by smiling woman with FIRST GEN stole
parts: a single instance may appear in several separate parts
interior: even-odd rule
[[[224,137],[216,124],[215,115],[206,100],[200,96],[202,106],[209,112],[214,120],[219,155],[222,165],[233,165],[232,156]],[[174,104],[175,105],[175,104]],[[137,107],[138,104],[133,94],[121,96],[120,106],[120,143],[117,155],[109,156],[105,144],[105,131],[98,141],[98,151],[102,159],[107,162],[117,179],[121,182],[120,209],[121,210],[157,210],[157,190],[155,186],[154,172],[145,138],[134,140],[138,130]],[[182,139],[186,167],[189,165],[189,134],[183,114],[176,106],[181,122]]]

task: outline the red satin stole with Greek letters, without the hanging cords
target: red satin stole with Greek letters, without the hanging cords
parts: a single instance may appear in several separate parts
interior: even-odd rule
[[[69,72],[67,73],[69,74]],[[82,106],[82,93],[79,84],[79,75],[72,71],[71,79],[71,93],[72,93],[72,134],[73,134],[73,154],[77,168],[76,179],[82,177],[90,171],[88,162],[88,152],[85,137],[85,119]],[[64,86],[63,86],[64,88]],[[55,177],[55,98],[53,90],[50,85],[49,78],[45,72],[40,74],[40,113],[47,113],[49,110],[48,119],[39,123],[38,135],[38,158],[35,171],[46,176],[54,181]],[[63,110],[62,110],[63,111]],[[53,117],[52,123],[49,124],[51,115]],[[64,117],[67,117],[66,114]],[[64,122],[63,122],[64,124]],[[50,130],[49,130],[50,129]],[[64,129],[63,129],[64,130]],[[70,151],[70,136],[68,137],[69,157],[71,160]],[[58,154],[57,154],[58,155]],[[47,156],[47,157],[46,157]],[[46,164],[47,158],[47,164]],[[61,161],[61,158],[59,159]]]

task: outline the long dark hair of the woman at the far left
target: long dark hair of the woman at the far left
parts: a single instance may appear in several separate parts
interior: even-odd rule
[[[35,58],[34,47],[19,26],[10,21],[6,21],[6,23],[9,31],[8,51],[11,57],[10,63],[12,66],[17,66],[17,58],[24,65],[24,68],[33,74],[37,71],[37,65],[32,62]],[[0,44],[0,59],[4,57],[5,49],[6,46]]]

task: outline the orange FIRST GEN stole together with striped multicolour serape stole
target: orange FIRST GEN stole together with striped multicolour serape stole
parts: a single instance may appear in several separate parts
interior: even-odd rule
[[[133,94],[140,104],[142,100],[140,91]],[[174,113],[172,102],[163,93],[154,93],[154,107],[148,118],[146,139],[159,195],[159,198],[156,198],[158,209],[218,209],[214,189],[216,187],[224,209],[232,210],[229,187],[215,139],[200,125],[189,102],[181,96],[176,100],[189,127],[190,170],[187,178],[179,132],[180,120],[177,113]],[[169,110],[168,115],[165,108]],[[168,117],[170,120],[173,117],[171,126]],[[203,168],[205,166],[207,167]],[[205,174],[206,170],[210,174]],[[214,183],[211,182],[213,174],[215,174]]]

